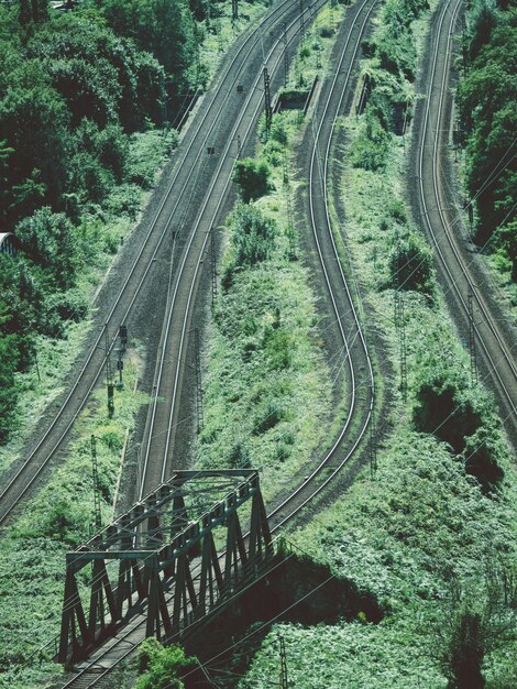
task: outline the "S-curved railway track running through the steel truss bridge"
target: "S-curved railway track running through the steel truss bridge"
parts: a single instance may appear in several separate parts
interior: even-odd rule
[[[333,77],[326,83],[321,91],[319,105],[314,113],[315,133],[310,157],[310,228],[315,242],[319,245],[321,270],[326,276],[329,298],[334,306],[336,324],[346,351],[348,378],[352,392],[351,404],[348,408],[346,419],[332,448],[326,453],[304,484],[270,513],[268,518],[272,523],[272,533],[278,533],[287,522],[295,518],[311,500],[328,488],[330,481],[336,478],[352,453],[356,451],[361,440],[364,438],[372,414],[374,398],[373,369],[360,316],[351,289],[348,286],[344,271],[340,265],[338,249],[333,239],[332,221],[328,210],[328,176],[336,121],[342,114],[343,107],[350,101],[350,90],[353,90],[354,69],[358,64],[361,39],[377,3],[378,0],[362,0],[348,11],[343,29],[340,32],[342,42],[338,40],[337,43],[337,55],[334,55],[336,70]],[[324,225],[321,225],[322,221],[324,221]],[[206,241],[206,233],[204,241]],[[329,248],[332,248],[332,254],[330,254]],[[202,247],[198,255],[202,256]],[[195,281],[193,281],[194,283]],[[345,331],[343,325],[343,310],[350,311],[352,317],[352,327],[348,328],[349,332]],[[350,326],[350,324],[348,325]],[[185,327],[184,324],[184,329]],[[160,362],[157,368],[158,370],[165,368],[165,362]],[[361,385],[366,385],[369,394],[359,404],[356,396]],[[358,416],[359,420],[353,423]],[[352,425],[354,425],[353,434],[349,437]],[[329,471],[329,474],[321,480],[323,471]],[[108,642],[106,647],[96,653],[80,668],[79,674],[72,678],[63,689],[109,686],[106,682],[109,682],[113,668],[133,654],[134,648],[143,639],[144,631],[145,615],[142,613],[140,617],[132,621],[131,626],[124,628],[118,637]],[[106,665],[107,667],[103,667]]]

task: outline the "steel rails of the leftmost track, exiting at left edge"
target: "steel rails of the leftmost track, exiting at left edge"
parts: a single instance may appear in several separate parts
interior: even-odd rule
[[[262,20],[261,24],[258,28],[256,28],[255,30],[253,30],[250,35],[248,35],[244,39],[244,43],[239,47],[238,53],[235,54],[235,56],[232,58],[232,61],[230,62],[230,64],[228,65],[228,67],[226,68],[224,74],[222,75],[222,77],[220,77],[219,79],[219,84],[217,85],[213,94],[211,95],[211,101],[208,105],[208,107],[206,108],[205,113],[202,114],[200,121],[198,122],[197,129],[194,133],[194,135],[191,136],[191,141],[190,143],[187,145],[186,151],[183,154],[183,157],[179,162],[177,162],[175,164],[175,172],[173,175],[173,179],[170,181],[170,183],[167,185],[166,192],[162,198],[162,201],[157,208],[157,210],[155,211],[154,218],[151,222],[150,229],[144,238],[144,242],[141,247],[141,249],[138,252],[138,255],[135,256],[133,264],[131,266],[130,272],[127,275],[127,278],[118,294],[118,296],[116,297],[116,300],[111,307],[111,310],[108,315],[108,320],[107,322],[109,324],[109,321],[111,320],[111,318],[113,317],[113,314],[116,313],[116,309],[118,307],[118,305],[120,304],[122,297],[125,295],[125,291],[130,284],[131,278],[133,277],[136,269],[140,265],[140,261],[142,259],[142,255],[144,253],[144,251],[147,249],[151,237],[158,223],[158,221],[161,220],[161,216],[162,212],[164,211],[165,205],[166,203],[169,200],[170,195],[173,193],[174,189],[174,185],[176,184],[176,181],[179,177],[180,172],[184,169],[184,166],[186,164],[186,161],[188,158],[188,155],[190,154],[191,150],[194,149],[195,144],[198,144],[198,135],[200,134],[200,132],[202,132],[202,128],[205,127],[207,119],[209,117],[212,118],[212,121],[210,123],[209,127],[209,131],[204,135],[202,142],[198,147],[198,152],[196,155],[196,161],[195,163],[190,166],[189,171],[188,171],[188,175],[187,175],[187,182],[185,182],[182,192],[178,195],[178,198],[176,200],[176,204],[174,206],[174,210],[173,214],[177,210],[179,203],[183,200],[183,195],[185,193],[185,189],[188,185],[188,182],[190,181],[193,174],[194,174],[194,169],[196,167],[196,163],[197,161],[200,158],[201,156],[201,152],[204,150],[204,146],[206,144],[206,142],[208,141],[208,138],[210,135],[210,133],[212,132],[212,130],[216,128],[216,125],[219,123],[219,116],[223,112],[224,110],[224,105],[228,101],[228,99],[230,98],[230,94],[231,94],[231,88],[234,86],[234,84],[237,83],[237,79],[239,77],[239,74],[235,74],[233,76],[232,83],[231,83],[231,87],[228,88],[223,102],[221,103],[221,106],[219,107],[218,110],[218,114],[216,118],[213,118],[213,112],[212,112],[212,106],[217,99],[217,97],[223,92],[222,91],[222,87],[224,84],[224,80],[228,79],[232,73],[232,70],[235,68],[235,65],[239,64],[239,61],[241,63],[241,65],[243,65],[245,63],[245,61],[248,59],[248,57],[251,55],[252,51],[256,47],[256,45],[258,43],[262,43],[263,40],[263,31],[264,31],[264,24],[266,24],[266,22],[273,22],[274,18],[279,14],[285,8],[289,7],[289,6],[295,6],[296,4],[296,0],[285,0],[285,2],[282,2],[279,6],[275,7],[268,14],[266,14],[266,17]],[[252,43],[252,46],[249,47],[250,43]],[[245,54],[245,56],[243,56],[244,50],[248,50],[248,53]],[[202,135],[202,134],[201,134]],[[173,215],[170,214],[170,215]],[[153,254],[151,256],[151,260],[147,262],[146,269],[144,271],[144,274],[142,275],[136,289],[130,300],[130,305],[128,306],[128,308],[125,309],[123,316],[120,318],[120,322],[123,322],[131,309],[134,306],[134,303],[136,300],[136,297],[144,284],[144,282],[147,278],[147,275],[152,269],[153,265],[153,260],[156,258],[161,245],[163,243],[163,240],[165,239],[166,234],[169,231],[169,219],[166,221],[165,225],[165,229],[162,231],[161,237],[157,241],[157,244],[153,251]],[[106,327],[106,326],[105,326]],[[0,504],[2,503],[2,501],[6,499],[6,496],[8,495],[9,492],[11,492],[14,488],[15,484],[19,482],[20,478],[22,477],[22,474],[29,470],[30,466],[33,463],[33,459],[35,458],[35,456],[37,455],[38,450],[43,447],[44,442],[51,437],[51,434],[54,431],[57,423],[62,419],[62,417],[64,416],[65,411],[68,408],[68,405],[70,404],[70,401],[74,396],[74,394],[76,393],[76,391],[78,390],[79,385],[82,383],[82,378],[85,376],[85,374],[88,372],[90,364],[94,360],[94,357],[96,353],[98,353],[98,350],[101,348],[101,343],[102,343],[102,338],[105,336],[105,330],[102,329],[101,332],[99,333],[99,336],[97,337],[97,339],[95,340],[94,344],[90,348],[90,351],[87,356],[87,359],[85,361],[85,363],[82,364],[81,369],[79,370],[78,375],[76,376],[76,380],[73,384],[73,386],[70,387],[65,401],[62,403],[59,409],[56,412],[51,425],[48,426],[48,428],[45,430],[45,433],[43,434],[43,436],[40,438],[40,440],[37,441],[36,446],[31,450],[30,455],[28,456],[28,458],[25,459],[25,461],[23,462],[23,464],[18,469],[18,471],[14,473],[14,475],[9,480],[8,484],[3,488],[2,492],[0,493]],[[110,342],[110,350],[113,348],[114,346],[114,341],[116,338],[113,338]],[[100,363],[100,365],[98,367],[98,370],[96,373],[94,373],[94,380],[92,382],[88,385],[86,393],[82,396],[82,401],[79,403],[78,408],[74,412],[72,418],[69,419],[69,422],[66,424],[65,428],[59,433],[58,438],[53,442],[53,447],[47,451],[46,457],[44,458],[43,462],[38,466],[38,468],[36,469],[36,471],[33,473],[33,475],[30,478],[30,480],[24,484],[23,489],[18,493],[15,500],[13,503],[11,503],[10,505],[8,505],[7,510],[4,510],[1,514],[0,514],[0,525],[3,524],[3,522],[7,520],[7,517],[10,515],[10,513],[14,510],[14,507],[18,505],[18,503],[20,502],[20,500],[25,495],[25,493],[29,491],[29,489],[33,485],[34,481],[37,479],[37,477],[41,474],[41,472],[43,471],[43,469],[46,467],[46,464],[48,463],[48,461],[52,459],[52,457],[54,456],[54,453],[57,451],[57,449],[61,447],[63,440],[66,438],[66,436],[68,435],[70,428],[73,427],[75,420],[77,419],[77,416],[80,414],[80,412],[82,411],[82,408],[85,407],[87,400],[89,397],[89,395],[91,394],[94,387],[96,386],[99,378],[101,376],[103,372],[103,360]]]

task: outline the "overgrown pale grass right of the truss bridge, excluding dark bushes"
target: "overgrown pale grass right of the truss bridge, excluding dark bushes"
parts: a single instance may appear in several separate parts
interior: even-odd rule
[[[354,134],[349,123],[349,139]],[[388,343],[386,356],[396,370],[399,342],[392,318],[393,289],[385,286],[397,221],[386,209],[399,208],[396,201],[403,198],[404,155],[400,142],[392,147],[387,173],[352,169],[348,163],[343,176],[346,241],[373,306],[371,320]],[[441,296],[430,303],[411,291],[405,294],[405,305],[409,408],[398,396],[391,417],[377,422],[387,435],[375,480],[363,475],[346,496],[293,536],[336,576],[373,593],[386,616],[378,625],[358,620],[316,628],[275,627],[241,687],[265,687],[275,680],[282,633],[289,678],[300,689],[444,689],[451,644],[465,611],[479,614],[485,625],[486,686],[513,686],[515,613],[505,606],[502,591],[505,577],[517,566],[515,466],[504,447],[501,423],[490,412],[483,423],[499,437],[505,479],[488,495],[465,472],[464,455],[454,455],[433,435],[415,431],[408,411],[422,372],[447,362],[468,380],[469,362]],[[481,386],[473,395],[491,404]]]

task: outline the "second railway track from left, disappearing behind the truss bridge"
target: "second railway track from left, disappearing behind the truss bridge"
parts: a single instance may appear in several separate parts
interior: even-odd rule
[[[316,0],[310,8],[305,10],[307,12],[306,24],[309,21],[309,11],[311,17],[315,10],[318,11],[324,4],[324,1]],[[270,32],[270,35],[275,35],[275,40],[270,50],[263,53],[263,66],[267,68],[273,81],[284,66],[285,42],[290,45],[296,41],[299,29],[299,17],[296,17],[285,24],[278,22]],[[202,278],[202,267],[210,247],[210,231],[213,231],[211,228],[215,228],[221,219],[222,208],[231,184],[232,142],[239,135],[242,144],[245,145],[251,139],[258,116],[263,110],[262,79],[263,73],[260,69],[251,83],[244,107],[233,122],[228,143],[221,152],[212,183],[200,204],[199,214],[194,222],[189,241],[169,289],[160,356],[153,382],[153,395],[140,457],[142,471],[138,493],[139,500],[163,482],[172,471],[175,431],[182,423],[188,420],[182,392],[188,363],[187,353],[193,313],[196,307],[199,310],[196,304],[197,287]]]

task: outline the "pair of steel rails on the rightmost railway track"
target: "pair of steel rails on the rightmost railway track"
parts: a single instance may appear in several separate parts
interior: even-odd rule
[[[470,264],[463,259],[462,256],[462,252],[460,251],[460,248],[458,245],[457,239],[454,238],[453,233],[451,232],[451,229],[449,227],[449,222],[447,220],[447,217],[444,215],[443,211],[443,207],[444,204],[442,203],[442,189],[441,189],[441,184],[440,184],[440,178],[439,178],[439,173],[438,173],[438,167],[439,167],[439,158],[441,155],[441,151],[440,151],[440,144],[441,144],[441,120],[442,120],[442,112],[443,112],[443,106],[444,106],[444,100],[447,97],[447,85],[448,85],[448,76],[449,76],[449,70],[450,70],[450,61],[451,61],[451,45],[452,45],[452,39],[453,39],[453,33],[454,33],[454,26],[455,26],[455,22],[458,19],[458,14],[460,11],[460,7],[461,7],[461,0],[458,0],[455,2],[455,4],[452,8],[452,14],[450,18],[450,23],[447,30],[447,46],[446,46],[446,63],[443,66],[443,72],[441,75],[441,79],[440,79],[440,95],[439,95],[439,101],[438,101],[438,111],[437,111],[437,117],[436,117],[436,125],[432,128],[430,120],[431,120],[431,94],[435,87],[435,78],[436,78],[436,74],[437,74],[437,64],[438,64],[438,58],[439,55],[441,54],[440,52],[440,41],[442,37],[442,26],[446,22],[446,17],[448,14],[448,11],[450,9],[450,6],[452,3],[452,0],[450,0],[449,2],[444,3],[443,9],[441,11],[440,18],[439,18],[439,24],[438,24],[438,31],[437,31],[437,40],[433,46],[433,59],[432,59],[432,66],[431,66],[431,74],[430,74],[430,78],[429,78],[429,86],[428,86],[428,92],[427,92],[427,103],[426,103],[426,112],[425,112],[425,119],[424,119],[424,125],[422,125],[422,132],[421,132],[421,139],[420,139],[420,146],[419,146],[419,151],[418,151],[418,171],[419,171],[419,198],[420,198],[420,204],[421,207],[424,209],[424,214],[422,217],[425,218],[425,223],[428,230],[428,234],[431,237],[432,239],[432,243],[435,247],[435,250],[439,256],[440,263],[443,267],[443,271],[448,277],[449,283],[452,286],[452,289],[454,292],[454,295],[458,299],[458,302],[460,303],[464,315],[466,316],[466,318],[469,318],[469,309],[468,309],[468,304],[465,302],[465,298],[462,294],[462,291],[460,288],[459,282],[458,280],[454,277],[453,274],[453,269],[451,267],[449,261],[447,260],[447,256],[444,255],[444,250],[442,250],[441,245],[440,245],[440,241],[439,241],[439,233],[443,233],[443,236],[447,238],[448,241],[448,245],[452,251],[452,254],[454,256],[454,260],[461,271],[462,277],[464,280],[464,283],[466,285],[466,291],[471,294],[473,294],[476,304],[481,310],[481,313],[483,314],[484,317],[484,322],[486,325],[486,327],[488,328],[490,332],[492,333],[496,346],[498,347],[499,353],[497,356],[494,356],[494,352],[491,352],[491,346],[485,341],[485,337],[483,336],[483,333],[481,332],[481,329],[479,327],[479,325],[476,322],[473,324],[473,328],[475,331],[475,335],[477,337],[479,342],[481,343],[482,348],[483,348],[483,353],[485,359],[488,361],[488,369],[491,370],[492,375],[496,379],[496,385],[499,387],[499,390],[503,393],[503,396],[506,398],[506,402],[509,404],[509,407],[513,412],[513,419],[510,418],[510,422],[513,422],[515,424],[515,419],[516,419],[516,403],[514,402],[513,395],[512,395],[512,391],[508,390],[507,384],[505,383],[505,381],[503,380],[503,375],[499,371],[499,365],[502,362],[506,363],[509,368],[509,371],[512,372],[513,376],[514,376],[514,381],[517,380],[517,367],[514,362],[513,356],[510,353],[509,348],[507,348],[505,339],[503,337],[503,335],[499,332],[499,329],[494,325],[495,319],[492,317],[491,314],[491,309],[488,307],[488,305],[486,304],[485,298],[483,297],[483,295],[480,294],[479,289],[475,286],[475,282],[473,280],[473,276],[470,272]],[[440,77],[440,75],[438,75],[438,77]],[[433,201],[436,201],[436,206],[437,206],[437,212],[439,216],[439,221],[440,221],[440,228],[436,229],[433,227],[433,223],[430,220],[430,210],[428,207],[428,201],[427,201],[427,192],[425,188],[425,182],[426,182],[426,177],[425,177],[425,149],[426,149],[426,142],[428,140],[429,136],[432,136],[432,131],[435,131],[435,135],[432,138],[432,193],[433,193]],[[515,390],[515,387],[514,387]]]

